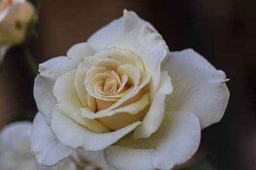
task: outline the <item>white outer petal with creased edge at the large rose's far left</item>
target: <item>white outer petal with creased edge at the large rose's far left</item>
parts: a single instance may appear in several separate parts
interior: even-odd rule
[[[38,110],[44,115],[48,125],[56,105],[56,99],[52,94],[54,83],[61,74],[72,69],[76,69],[76,64],[68,57],[55,57],[39,64],[40,74],[35,78],[34,98]]]

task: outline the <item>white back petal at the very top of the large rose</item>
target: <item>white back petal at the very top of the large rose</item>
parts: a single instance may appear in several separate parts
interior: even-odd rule
[[[113,20],[108,25],[102,27],[96,31],[88,39],[88,43],[92,45],[93,49],[97,52],[107,48],[108,44],[116,39],[122,37],[132,29],[140,26],[141,24],[146,24],[151,29],[154,27],[147,21],[138,17],[134,11],[124,10],[124,17],[120,17],[117,20]],[[156,31],[156,29],[154,29]]]

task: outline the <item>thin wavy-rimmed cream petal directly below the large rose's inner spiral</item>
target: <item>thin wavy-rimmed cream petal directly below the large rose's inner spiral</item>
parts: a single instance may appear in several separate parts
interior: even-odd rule
[[[84,118],[90,118],[90,119],[111,117],[118,113],[129,113],[131,115],[136,115],[138,112],[142,111],[148,104],[149,104],[149,94],[147,93],[144,96],[142,96],[140,100],[134,103],[128,104],[127,106],[124,106],[122,108],[117,108],[111,111],[102,110],[102,111],[98,111],[95,114],[86,108],[81,108],[81,115]]]

